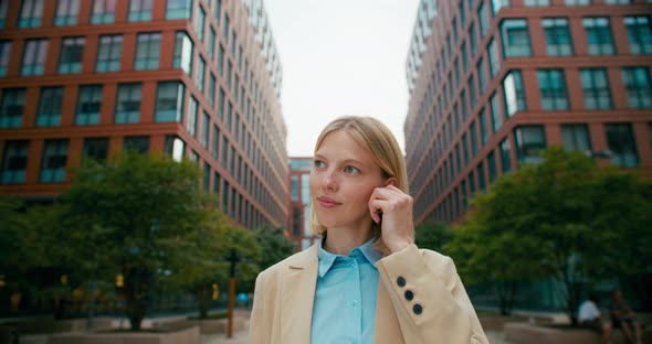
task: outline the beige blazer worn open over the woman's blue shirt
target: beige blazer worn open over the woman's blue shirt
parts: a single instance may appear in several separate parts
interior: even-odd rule
[[[309,343],[317,245],[259,275],[250,343]],[[380,279],[374,343],[488,343],[451,258],[411,245],[376,266]]]

